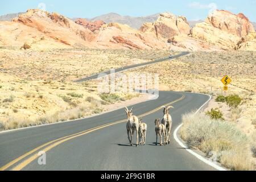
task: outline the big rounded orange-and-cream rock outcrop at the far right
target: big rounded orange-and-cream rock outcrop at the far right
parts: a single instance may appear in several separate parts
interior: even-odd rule
[[[242,13],[232,14],[229,11],[216,10],[203,23],[192,29],[192,37],[214,44],[222,49],[238,49],[237,44],[247,40],[245,37],[255,32],[253,25]],[[255,51],[255,45],[246,46],[246,50]]]

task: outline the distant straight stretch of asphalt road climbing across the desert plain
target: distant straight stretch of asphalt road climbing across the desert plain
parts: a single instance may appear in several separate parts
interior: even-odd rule
[[[165,57],[165,58],[157,59],[157,60],[150,61],[150,62],[147,62],[147,63],[134,64],[134,65],[129,65],[127,67],[117,68],[117,69],[115,69],[115,73],[123,72],[123,71],[126,71],[128,69],[143,67],[143,66],[146,66],[146,65],[149,65],[149,64],[155,64],[155,63],[160,63],[160,62],[167,61],[167,60],[176,59],[178,57],[185,56],[185,55],[188,55],[188,54],[189,54],[189,52],[181,52],[179,55],[174,55],[172,57]],[[92,75],[92,76],[89,76],[89,77],[86,77],[86,78],[82,78],[80,80],[76,80],[75,82],[83,82],[83,81],[93,80],[93,79],[96,79],[96,78],[100,78],[101,77],[100,75],[103,75],[103,76],[104,75],[110,75],[110,70],[106,71],[106,72],[96,74],[96,75]]]

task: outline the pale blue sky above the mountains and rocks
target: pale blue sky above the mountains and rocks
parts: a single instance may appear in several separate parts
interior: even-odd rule
[[[144,16],[170,11],[184,15],[189,20],[205,19],[211,9],[229,10],[233,13],[244,13],[252,22],[256,22],[256,0],[7,0],[0,1],[0,15],[18,13],[27,9],[43,8],[68,16],[93,18],[94,16],[118,13],[121,15]]]

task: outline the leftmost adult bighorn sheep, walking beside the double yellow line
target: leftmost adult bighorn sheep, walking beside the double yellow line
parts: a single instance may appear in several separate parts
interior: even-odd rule
[[[130,145],[133,146],[133,135],[134,131],[136,131],[137,134],[137,142],[136,142],[136,147],[138,147],[138,138],[139,138],[139,119],[135,115],[133,115],[133,108],[131,110],[127,109],[125,107],[125,112],[127,114],[127,123],[126,123],[126,130],[127,130],[127,135],[128,139],[130,142]]]

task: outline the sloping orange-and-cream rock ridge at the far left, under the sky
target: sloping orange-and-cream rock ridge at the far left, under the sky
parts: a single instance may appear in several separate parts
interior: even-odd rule
[[[57,13],[50,14],[42,10],[28,10],[27,13],[20,14],[13,21],[36,28],[49,38],[68,46],[81,44],[90,47],[89,42],[95,38],[92,31]]]

